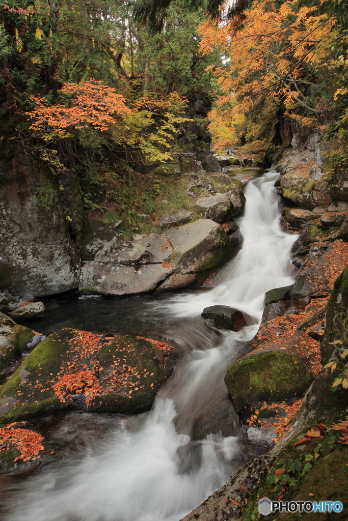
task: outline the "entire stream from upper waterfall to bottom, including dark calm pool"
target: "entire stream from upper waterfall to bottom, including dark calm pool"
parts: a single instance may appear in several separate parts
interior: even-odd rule
[[[242,250],[223,268],[218,287],[50,301],[40,322],[46,334],[62,327],[142,334],[172,340],[186,354],[149,413],[117,418],[107,436],[90,440],[83,457],[23,480],[6,521],[179,521],[238,466],[267,450],[248,440],[223,378],[231,362],[248,353],[265,292],[294,281],[290,253],[297,237],[281,229],[277,179],[268,172],[246,186]],[[208,328],[200,315],[215,304],[240,309],[248,326],[220,334]]]

